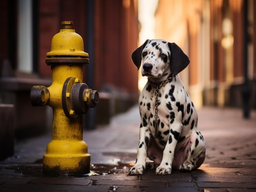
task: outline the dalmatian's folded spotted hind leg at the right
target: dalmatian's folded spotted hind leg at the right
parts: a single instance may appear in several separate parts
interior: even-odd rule
[[[181,172],[191,172],[202,165],[205,158],[205,142],[199,131],[190,136],[191,147],[188,150],[186,161],[180,166]]]

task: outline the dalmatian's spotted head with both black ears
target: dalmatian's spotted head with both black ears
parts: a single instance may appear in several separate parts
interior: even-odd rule
[[[141,73],[150,79],[165,80],[171,73],[177,75],[189,64],[189,57],[175,43],[155,39],[146,42],[132,53],[133,63],[141,66]]]

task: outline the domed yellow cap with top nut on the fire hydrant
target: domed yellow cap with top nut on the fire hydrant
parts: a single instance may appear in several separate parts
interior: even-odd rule
[[[51,43],[51,51],[47,57],[89,57],[84,52],[83,38],[72,29],[72,21],[61,22],[63,29],[54,35]]]

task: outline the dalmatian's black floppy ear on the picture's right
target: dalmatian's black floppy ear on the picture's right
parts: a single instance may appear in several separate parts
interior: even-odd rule
[[[168,43],[171,51],[170,69],[174,75],[180,73],[189,64],[189,57],[175,43]]]

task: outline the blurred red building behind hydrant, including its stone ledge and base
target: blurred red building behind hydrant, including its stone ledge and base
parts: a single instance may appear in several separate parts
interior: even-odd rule
[[[89,53],[83,82],[100,92],[97,121],[108,123],[111,115],[137,102],[138,75],[131,60],[139,38],[137,4],[137,0],[0,1],[0,103],[14,104],[17,129],[46,126],[46,107],[32,107],[29,94],[33,85],[51,84],[52,71],[45,59],[61,21],[73,21]]]

